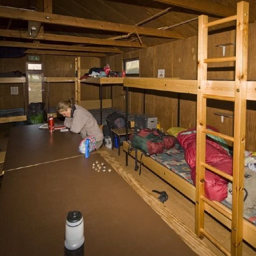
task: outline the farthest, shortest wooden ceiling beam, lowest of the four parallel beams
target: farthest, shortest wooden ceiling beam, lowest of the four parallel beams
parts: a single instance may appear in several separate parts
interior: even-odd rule
[[[47,51],[47,50],[36,50],[29,49],[24,53],[27,54],[45,54],[45,55],[65,55],[65,56],[85,56],[85,57],[106,57],[104,53],[82,53],[82,52],[66,52],[66,51]]]

